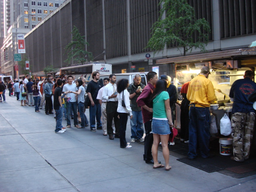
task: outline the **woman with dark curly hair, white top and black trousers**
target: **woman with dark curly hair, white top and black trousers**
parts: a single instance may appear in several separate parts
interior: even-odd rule
[[[128,113],[130,115],[130,119],[132,118],[132,109],[130,107],[130,94],[127,91],[129,86],[128,79],[121,79],[116,84],[116,91],[118,92],[118,108],[117,112],[120,118],[120,148],[131,148],[130,143],[126,142],[125,132],[126,132],[126,124],[128,119]]]

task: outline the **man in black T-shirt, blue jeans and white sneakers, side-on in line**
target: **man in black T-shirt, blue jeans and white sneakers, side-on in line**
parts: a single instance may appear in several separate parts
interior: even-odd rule
[[[62,126],[62,98],[68,93],[65,92],[62,96],[62,80],[58,79],[57,80],[57,87],[54,90],[54,103],[53,103],[53,108],[56,112],[56,128],[55,128],[55,133],[64,133],[65,128]]]

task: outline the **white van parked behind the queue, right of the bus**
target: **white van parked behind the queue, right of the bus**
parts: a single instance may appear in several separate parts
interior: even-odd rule
[[[116,75],[116,82],[118,82],[118,80],[120,79],[128,79],[129,80],[129,84],[131,84],[133,82],[134,76],[136,74],[139,74],[141,76],[141,83],[144,85],[147,85],[147,74],[148,72],[135,72],[135,73],[119,73],[119,74],[115,74]],[[100,78],[103,80],[104,78],[108,78],[108,75],[100,75]]]

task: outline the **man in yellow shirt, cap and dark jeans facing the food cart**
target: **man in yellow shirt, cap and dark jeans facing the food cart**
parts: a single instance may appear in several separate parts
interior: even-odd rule
[[[196,147],[199,143],[202,158],[210,158],[210,123],[209,107],[216,100],[212,82],[208,80],[210,68],[203,66],[200,74],[193,78],[188,86],[187,98],[190,101],[189,110],[189,144],[188,158],[196,158]]]

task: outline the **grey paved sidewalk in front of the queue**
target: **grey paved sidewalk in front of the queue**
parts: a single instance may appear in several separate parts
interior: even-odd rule
[[[109,140],[102,130],[72,125],[56,134],[53,115],[20,106],[14,96],[0,103],[0,122],[1,192],[256,191],[256,175],[237,179],[207,173],[172,155],[169,172],[155,170],[143,161],[144,145],[120,148],[119,139]],[[129,142],[129,120],[126,138]],[[158,157],[164,164],[162,152]]]

